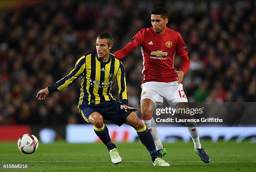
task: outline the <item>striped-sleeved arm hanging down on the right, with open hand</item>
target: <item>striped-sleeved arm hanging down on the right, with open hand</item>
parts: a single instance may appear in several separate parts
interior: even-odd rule
[[[117,85],[118,85],[118,95],[122,102],[121,109],[128,110],[128,111],[136,111],[138,110],[135,107],[128,106],[128,96],[127,96],[127,90],[126,90],[126,80],[125,80],[125,68],[120,62],[120,66],[118,69],[118,73],[116,75]]]

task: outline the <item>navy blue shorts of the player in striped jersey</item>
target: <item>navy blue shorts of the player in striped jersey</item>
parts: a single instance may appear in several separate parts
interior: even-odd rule
[[[88,119],[93,112],[98,112],[100,115],[102,115],[104,120],[108,120],[109,122],[112,122],[120,127],[123,125],[123,123],[125,123],[126,118],[131,113],[129,111],[121,110],[120,105],[122,105],[120,102],[110,100],[109,102],[98,106],[88,105],[82,110],[79,110],[79,112],[82,114],[86,122],[89,122]]]

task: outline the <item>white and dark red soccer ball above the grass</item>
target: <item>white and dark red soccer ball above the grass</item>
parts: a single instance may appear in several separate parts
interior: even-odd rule
[[[18,148],[24,154],[33,154],[38,148],[38,140],[36,136],[31,134],[20,136],[18,140]]]

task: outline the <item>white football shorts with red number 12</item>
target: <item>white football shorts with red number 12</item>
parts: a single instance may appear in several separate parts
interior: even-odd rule
[[[141,85],[141,100],[151,99],[155,107],[162,105],[164,100],[175,107],[179,102],[187,102],[187,96],[183,90],[183,85],[174,82],[146,82]]]

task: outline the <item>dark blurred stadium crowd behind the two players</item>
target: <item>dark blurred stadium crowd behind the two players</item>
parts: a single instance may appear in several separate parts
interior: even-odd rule
[[[0,12],[0,124],[84,123],[77,110],[80,80],[45,101],[36,99],[37,92],[95,50],[98,33],[114,35],[111,52],[122,48],[151,27],[156,6],[168,9],[167,26],[187,44],[191,66],[183,85],[189,101],[256,102],[255,1],[44,1]],[[130,105],[139,107],[141,49],[123,64]],[[174,66],[180,65],[176,57]]]

